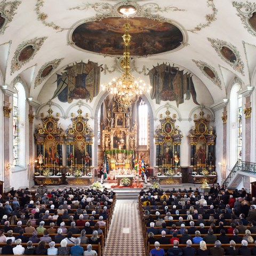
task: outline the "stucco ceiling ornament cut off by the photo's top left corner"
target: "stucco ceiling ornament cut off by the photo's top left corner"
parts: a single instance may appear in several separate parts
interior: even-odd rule
[[[4,34],[7,24],[12,21],[20,4],[20,1],[6,2],[5,0],[0,3],[0,34]]]

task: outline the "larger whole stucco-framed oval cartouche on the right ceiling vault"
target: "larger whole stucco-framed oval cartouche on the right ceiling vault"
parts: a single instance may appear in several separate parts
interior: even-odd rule
[[[208,41],[220,58],[244,76],[244,63],[236,47],[226,41],[208,37]]]

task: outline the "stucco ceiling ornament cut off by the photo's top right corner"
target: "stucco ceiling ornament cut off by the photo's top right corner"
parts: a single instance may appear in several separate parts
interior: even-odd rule
[[[232,4],[236,8],[237,15],[241,18],[244,27],[251,35],[256,36],[256,3],[234,1]]]

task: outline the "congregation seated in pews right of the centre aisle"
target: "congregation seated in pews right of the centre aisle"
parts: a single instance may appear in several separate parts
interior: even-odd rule
[[[141,190],[146,251],[159,255],[256,255],[256,199],[242,188]]]

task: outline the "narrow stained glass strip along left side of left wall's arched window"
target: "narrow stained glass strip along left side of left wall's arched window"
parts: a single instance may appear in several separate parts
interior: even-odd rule
[[[12,119],[12,135],[13,135],[13,165],[19,165],[19,97],[18,93],[13,94],[13,119]]]

